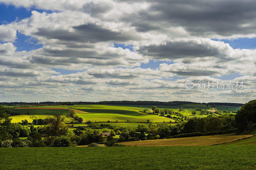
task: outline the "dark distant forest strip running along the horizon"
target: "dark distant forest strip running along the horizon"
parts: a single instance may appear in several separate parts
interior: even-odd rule
[[[237,106],[242,107],[242,103],[219,103],[219,102],[210,102],[210,103],[197,103],[191,101],[64,101],[64,102],[53,102],[53,101],[44,101],[44,102],[0,102],[0,105],[164,105],[164,106],[179,106],[185,104],[208,104],[208,105],[222,105],[222,106]]]

